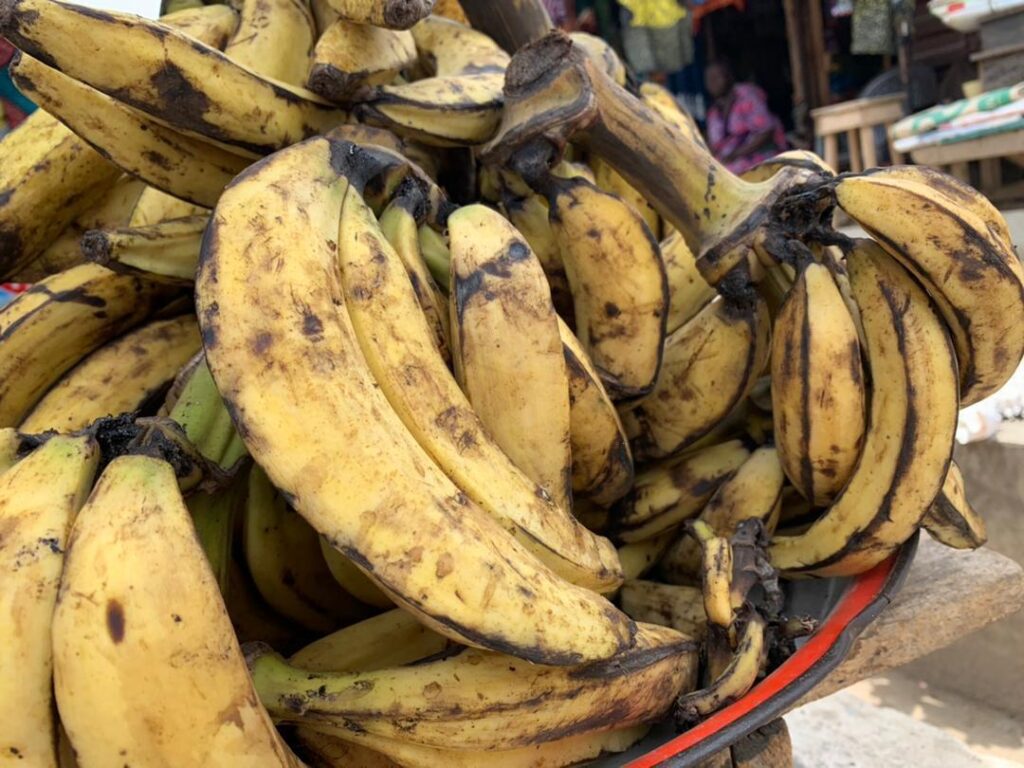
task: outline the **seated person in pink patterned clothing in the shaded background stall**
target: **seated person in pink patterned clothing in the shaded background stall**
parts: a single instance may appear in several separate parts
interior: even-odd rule
[[[735,82],[724,61],[709,65],[705,87],[712,98],[708,145],[730,171],[742,173],[786,150],[782,122],[768,109],[761,88]]]

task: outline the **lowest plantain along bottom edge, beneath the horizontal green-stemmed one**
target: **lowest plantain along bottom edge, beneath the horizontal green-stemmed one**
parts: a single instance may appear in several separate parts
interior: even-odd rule
[[[310,728],[298,729],[298,740],[302,746],[309,745],[312,737],[314,749],[331,750],[330,756],[344,756],[341,763],[335,765],[359,765],[366,768],[390,768],[393,765],[407,768],[433,768],[443,765],[450,768],[477,768],[485,765],[487,768],[561,768],[561,766],[579,765],[605,754],[626,752],[643,738],[650,727],[635,725],[629,728],[618,728],[610,731],[592,731],[575,736],[564,736],[553,741],[543,741],[516,750],[439,750],[423,746],[414,741],[382,738],[370,734],[354,734],[351,731],[329,729],[321,731]],[[325,740],[329,739],[329,742]],[[346,740],[348,739],[348,740]],[[358,741],[357,744],[351,740]],[[353,753],[353,748],[361,748],[364,752]],[[379,756],[387,756],[387,763],[379,762],[347,762],[366,761],[368,750],[373,751],[372,759],[380,760]],[[321,754],[325,754],[322,752]],[[392,762],[393,761],[393,762]],[[313,766],[318,764],[313,762]]]

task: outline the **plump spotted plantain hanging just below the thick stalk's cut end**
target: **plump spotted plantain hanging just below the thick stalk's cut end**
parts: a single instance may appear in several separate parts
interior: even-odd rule
[[[575,314],[575,333],[612,397],[647,394],[657,379],[669,289],[657,242],[640,214],[586,179],[532,177]]]

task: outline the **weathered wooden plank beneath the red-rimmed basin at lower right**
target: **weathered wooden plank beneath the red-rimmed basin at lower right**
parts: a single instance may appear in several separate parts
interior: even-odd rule
[[[924,536],[903,589],[847,658],[797,706],[950,645],[1024,607],[1024,569],[990,550],[957,552]]]

